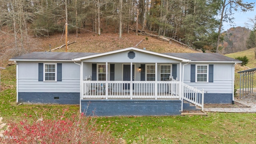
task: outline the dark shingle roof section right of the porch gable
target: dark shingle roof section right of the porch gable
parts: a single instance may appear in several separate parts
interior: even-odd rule
[[[229,58],[227,56],[218,53],[164,53],[170,56],[176,56],[179,58],[186,58],[191,61],[234,61],[240,62],[234,58]]]

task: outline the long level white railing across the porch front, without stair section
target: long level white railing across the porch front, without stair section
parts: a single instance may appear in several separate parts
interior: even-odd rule
[[[83,98],[180,98],[179,81],[83,81]]]

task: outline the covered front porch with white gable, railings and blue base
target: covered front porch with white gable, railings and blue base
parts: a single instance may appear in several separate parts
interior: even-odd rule
[[[183,100],[203,106],[203,92],[181,81],[187,59],[127,48],[74,62],[80,65],[80,112],[179,115]]]

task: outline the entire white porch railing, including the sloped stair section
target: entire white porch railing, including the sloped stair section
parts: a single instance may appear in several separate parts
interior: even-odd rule
[[[183,100],[186,100],[204,110],[204,89],[201,91],[187,84],[181,84],[173,78],[170,78],[170,81],[92,81],[86,78],[83,81],[82,99],[178,98],[182,100],[182,104]],[[181,90],[183,96],[179,92],[180,85],[183,86]]]

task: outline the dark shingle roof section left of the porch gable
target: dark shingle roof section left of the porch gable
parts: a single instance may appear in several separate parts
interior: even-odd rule
[[[11,58],[11,60],[72,60],[83,56],[90,56],[98,53],[88,52],[32,52]]]

